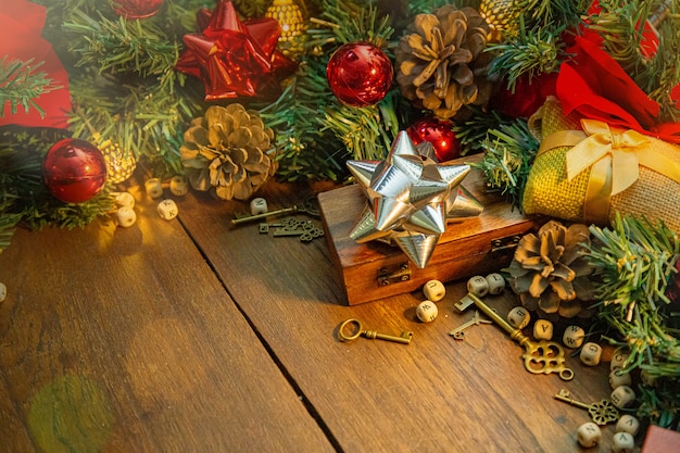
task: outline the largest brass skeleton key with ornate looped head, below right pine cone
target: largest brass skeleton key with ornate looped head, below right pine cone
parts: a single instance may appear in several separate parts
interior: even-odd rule
[[[531,341],[521,330],[511,326],[477,295],[469,292],[466,297],[471,299],[479,310],[508,332],[513,341],[516,341],[524,348],[525,351],[521,357],[525,361],[527,372],[536,375],[557,373],[563,380],[574,379],[574,369],[565,366],[564,349],[559,343],[544,340]]]

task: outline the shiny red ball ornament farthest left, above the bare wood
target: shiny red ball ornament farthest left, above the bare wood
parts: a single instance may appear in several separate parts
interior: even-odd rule
[[[59,200],[83,203],[103,189],[106,162],[89,141],[65,138],[47,152],[42,162],[42,180]]]

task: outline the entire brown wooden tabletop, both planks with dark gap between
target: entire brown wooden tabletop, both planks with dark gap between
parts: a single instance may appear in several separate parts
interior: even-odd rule
[[[175,198],[166,222],[134,188],[137,224],[17,230],[0,254],[0,451],[574,452],[588,413],[553,399],[610,393],[608,364],[572,381],[524,369],[448,284],[431,324],[419,292],[348,306],[326,242],[232,227],[244,202]],[[268,184],[269,209],[307,186]],[[506,312],[515,298],[488,298]],[[348,318],[411,344],[341,342]],[[609,452],[614,426],[589,452]]]

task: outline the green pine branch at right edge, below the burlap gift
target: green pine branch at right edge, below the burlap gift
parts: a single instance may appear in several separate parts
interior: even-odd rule
[[[641,403],[635,414],[664,427],[680,413],[680,338],[677,301],[666,293],[677,285],[680,239],[663,222],[617,216],[612,227],[591,226],[584,259],[601,280],[597,315],[607,340],[626,356],[621,369],[639,370]],[[673,421],[675,420],[675,421]]]

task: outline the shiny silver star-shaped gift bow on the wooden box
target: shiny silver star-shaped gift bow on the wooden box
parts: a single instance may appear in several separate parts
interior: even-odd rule
[[[368,200],[350,237],[358,243],[395,243],[417,267],[426,267],[469,165],[424,162],[401,131],[383,162],[349,161],[348,166]]]

